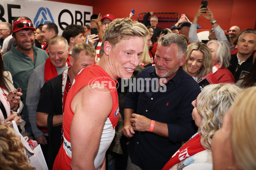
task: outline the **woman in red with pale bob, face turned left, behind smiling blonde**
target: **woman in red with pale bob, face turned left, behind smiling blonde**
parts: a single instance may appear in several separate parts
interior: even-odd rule
[[[212,73],[219,83],[234,83],[235,78],[228,69],[230,66],[230,49],[225,42],[211,40],[207,46],[212,52]]]

